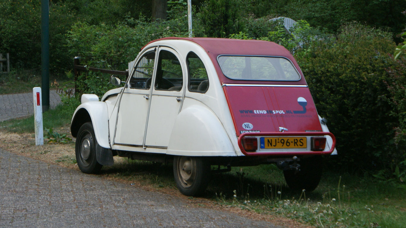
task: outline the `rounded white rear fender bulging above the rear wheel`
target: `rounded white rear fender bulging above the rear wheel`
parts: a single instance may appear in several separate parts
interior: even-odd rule
[[[220,120],[211,110],[201,105],[191,105],[179,113],[166,153],[187,156],[236,156]]]

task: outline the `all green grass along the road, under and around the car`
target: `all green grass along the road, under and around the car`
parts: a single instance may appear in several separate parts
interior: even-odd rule
[[[70,99],[45,112],[44,127],[58,129],[69,125],[77,105],[78,101]],[[29,117],[5,121],[1,126],[6,131],[24,133],[33,132],[33,123]],[[56,162],[73,164],[76,161],[73,154],[56,157]],[[404,227],[406,185],[380,181],[367,174],[358,176],[326,170],[315,191],[294,192],[287,188],[283,173],[274,165],[233,167],[231,172],[215,174],[203,197],[214,204],[279,214],[321,228]],[[171,164],[119,158],[114,166],[104,167],[102,175],[176,191]]]

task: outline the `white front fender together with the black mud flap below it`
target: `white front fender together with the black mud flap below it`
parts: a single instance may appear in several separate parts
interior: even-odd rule
[[[86,122],[92,122],[96,136],[96,159],[102,165],[111,166],[114,163],[109,143],[108,110],[105,102],[88,101],[82,103],[73,113],[71,133],[78,135],[79,128]]]

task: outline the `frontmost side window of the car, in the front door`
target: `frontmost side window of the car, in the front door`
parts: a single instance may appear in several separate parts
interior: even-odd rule
[[[148,90],[151,87],[154,62],[155,51],[147,52],[140,58],[130,79],[130,88]]]

